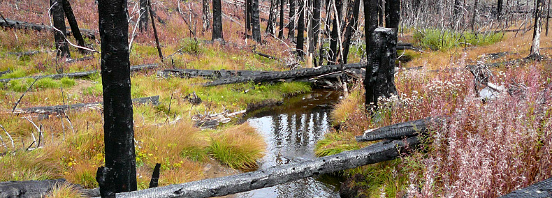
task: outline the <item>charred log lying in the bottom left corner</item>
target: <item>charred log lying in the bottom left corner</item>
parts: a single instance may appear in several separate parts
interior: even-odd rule
[[[53,188],[59,185],[72,185],[85,197],[97,197],[100,195],[98,188],[84,189],[80,185],[68,183],[65,179],[52,179],[42,181],[5,181],[0,182],[0,197],[40,198],[47,195]]]

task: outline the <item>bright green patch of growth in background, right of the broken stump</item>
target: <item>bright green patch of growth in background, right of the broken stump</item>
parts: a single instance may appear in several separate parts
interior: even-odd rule
[[[423,47],[449,50],[452,47],[491,45],[502,40],[504,33],[474,34],[451,30],[423,29],[414,33],[414,40]]]

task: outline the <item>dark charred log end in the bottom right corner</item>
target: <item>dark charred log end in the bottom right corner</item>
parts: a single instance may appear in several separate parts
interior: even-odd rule
[[[552,178],[510,192],[500,198],[545,198],[552,197]]]

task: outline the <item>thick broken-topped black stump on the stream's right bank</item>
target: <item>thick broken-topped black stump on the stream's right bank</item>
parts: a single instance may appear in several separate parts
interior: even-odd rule
[[[374,0],[377,1],[377,0]],[[380,97],[397,94],[395,88],[395,56],[397,32],[394,29],[377,28],[370,36],[366,59],[366,105],[377,108]]]

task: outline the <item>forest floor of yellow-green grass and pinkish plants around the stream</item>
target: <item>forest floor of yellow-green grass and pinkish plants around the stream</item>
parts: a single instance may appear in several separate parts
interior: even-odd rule
[[[98,15],[95,11],[97,5],[94,1],[73,1],[72,3],[80,27],[97,29]],[[133,31],[136,24],[137,8],[133,6],[136,3],[137,1],[129,1],[129,12],[133,17],[129,24],[129,32]],[[289,70],[303,64],[300,62],[294,64],[293,50],[289,47],[292,43],[289,40],[279,40],[264,34],[263,45],[246,40],[242,9],[228,3],[223,3],[224,39],[228,43],[226,45],[208,43],[204,40],[210,40],[210,30],[201,31],[201,4],[180,1],[159,1],[152,4],[157,13],[155,22],[161,51],[166,59],[164,63],[159,59],[151,26],[144,32],[136,30],[130,54],[133,66],[158,64],[157,68],[141,70],[131,75],[132,98],[159,96],[160,100],[160,105],[157,106],[145,104],[133,107],[138,188],[147,188],[152,169],[155,163],[159,162],[161,163],[159,185],[233,174],[235,171],[232,169],[240,171],[254,169],[256,160],[263,156],[265,149],[263,139],[259,138],[254,128],[247,123],[238,123],[238,119],[232,119],[229,123],[219,125],[215,130],[202,130],[194,126],[193,120],[206,114],[240,112],[247,109],[248,104],[282,100],[286,96],[309,92],[312,89],[310,84],[279,82],[203,87],[199,84],[207,82],[208,79],[162,78],[157,76],[157,71],[165,68]],[[46,1],[4,1],[0,4],[0,13],[13,20],[50,24],[48,8]],[[268,18],[268,15],[261,13],[261,17]],[[261,30],[265,28],[266,22],[261,22]],[[539,62],[506,64],[492,68],[495,74],[492,80],[495,84],[504,86],[513,83],[520,86],[523,84],[528,91],[524,100],[513,99],[502,94],[486,104],[477,100],[476,93],[473,91],[473,77],[463,68],[465,65],[481,61],[482,54],[512,52],[497,59],[488,58],[486,60],[488,63],[525,57],[528,55],[532,36],[530,33],[520,33],[517,36],[514,34],[506,33],[500,42],[484,46],[451,47],[446,50],[427,50],[426,52],[405,51],[407,56],[412,57],[412,61],[400,65],[395,75],[399,97],[382,105],[377,112],[379,119],[374,121],[368,119],[362,110],[364,109],[362,87],[351,84],[354,89],[351,89],[349,98],[342,100],[333,113],[333,122],[335,125],[340,125],[340,129],[329,133],[326,139],[319,142],[317,152],[319,155],[331,155],[360,148],[365,144],[356,143],[354,135],[360,135],[368,128],[446,114],[458,117],[457,122],[461,124],[444,131],[435,130],[430,134],[437,139],[446,139],[444,142],[426,143],[428,148],[426,150],[430,152],[414,152],[414,155],[409,157],[344,173],[348,175],[363,173],[365,180],[358,182],[357,185],[364,190],[359,193],[370,197],[382,195],[399,197],[411,191],[409,195],[435,193],[434,195],[462,197],[460,194],[453,194],[452,191],[461,193],[461,190],[465,190],[463,188],[468,188],[467,192],[472,192],[470,190],[483,187],[496,190],[481,192],[488,193],[482,195],[496,196],[542,178],[548,178],[552,174],[547,168],[552,166],[545,162],[545,160],[548,160],[548,163],[552,161],[549,155],[552,149],[551,100],[546,100],[546,97],[550,96],[539,96],[539,93],[551,89],[551,62],[545,59]],[[399,39],[403,42],[414,42],[412,33],[400,34]],[[0,79],[50,75],[60,71],[73,73],[99,70],[100,67],[100,54],[79,54],[75,48],[71,50],[73,59],[85,56],[94,58],[74,63],[57,60],[54,38],[50,32],[2,28],[0,40],[2,41],[0,72],[10,71],[0,75]],[[543,36],[541,46],[552,47],[551,40],[551,37]],[[86,43],[89,47],[99,50],[99,36],[96,36],[96,39],[87,39]],[[354,48],[357,50],[351,50],[349,63],[361,60],[363,50],[358,49],[362,47],[363,45],[356,45]],[[278,60],[259,56],[253,50],[270,54]],[[13,52],[30,51],[38,51],[38,54],[13,54]],[[544,56],[549,56],[549,52],[552,50],[542,50]],[[420,66],[419,69],[402,69]],[[458,67],[460,68],[458,70],[446,70]],[[26,92],[33,83],[31,89]],[[197,105],[191,103],[187,96],[193,93],[203,102]],[[22,99],[17,102],[20,97]],[[542,97],[545,98],[544,103],[538,103]],[[3,109],[0,110],[0,125],[6,129],[6,132],[0,131],[4,143],[0,145],[0,172],[5,173],[0,174],[0,181],[66,178],[71,183],[80,184],[85,188],[97,187],[96,169],[104,163],[101,108],[73,109],[64,114],[46,116],[12,114],[11,109],[16,103],[17,108],[27,108],[99,102],[102,99],[99,74],[80,79],[45,78],[38,79],[36,82],[33,78],[15,79],[0,83],[0,98],[2,101],[0,109]],[[512,109],[517,114],[509,112]],[[541,116],[542,114],[544,116]],[[491,126],[500,127],[505,133],[520,134],[511,136],[504,135],[503,132],[502,136],[507,138],[498,142],[497,138],[492,136],[497,134],[491,131]],[[473,135],[476,132],[481,132],[483,135]],[[535,134],[528,135],[528,132]],[[13,146],[6,134],[13,139]],[[453,137],[465,138],[455,142]],[[474,142],[472,139],[477,141],[484,139],[484,141],[472,147],[465,147],[464,152],[456,150],[458,146],[454,145]],[[522,140],[524,144],[516,144]],[[486,145],[495,147],[491,146],[492,151],[484,154],[470,153],[483,147],[487,148]],[[468,151],[470,148],[473,150]],[[508,150],[514,148],[515,151]],[[502,152],[504,149],[509,153]],[[461,157],[465,161],[451,159],[456,157]],[[485,160],[499,157],[500,161]],[[512,161],[517,163],[509,164],[510,167],[504,169],[504,173],[478,174],[477,172],[488,171],[487,168],[495,168],[502,165],[500,163]],[[491,165],[472,167],[470,169],[472,172],[469,173],[471,175],[465,176],[468,173],[459,170],[467,169],[462,167],[462,165],[467,166],[466,163]],[[518,169],[530,171],[520,172]],[[369,172],[371,174],[368,174]],[[465,179],[479,179],[483,176],[488,178],[481,178],[478,186],[463,185],[467,182],[464,181]],[[499,183],[507,184],[499,186]],[[449,188],[451,186],[456,188]],[[53,197],[68,196],[59,193],[52,195],[55,195]],[[467,197],[472,197],[470,195],[477,195],[477,193],[468,194]]]

